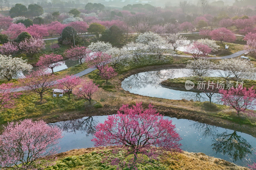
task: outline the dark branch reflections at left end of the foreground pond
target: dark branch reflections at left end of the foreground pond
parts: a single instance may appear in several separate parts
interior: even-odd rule
[[[54,125],[56,125],[65,132],[76,133],[76,131],[81,131],[82,133],[86,133],[86,136],[89,136],[89,134],[93,135],[95,133],[95,128],[98,122],[99,121],[97,120],[93,120],[92,116],[89,116],[76,120],[57,122],[54,123]]]

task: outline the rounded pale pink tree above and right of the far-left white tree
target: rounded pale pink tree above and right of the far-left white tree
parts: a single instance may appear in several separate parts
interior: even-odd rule
[[[19,43],[19,48],[23,53],[32,55],[38,53],[44,46],[44,40],[33,37]]]

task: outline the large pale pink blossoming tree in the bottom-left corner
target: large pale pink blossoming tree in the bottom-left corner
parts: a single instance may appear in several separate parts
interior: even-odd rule
[[[37,159],[57,153],[60,138],[62,131],[42,120],[9,122],[0,135],[0,167],[35,168]]]

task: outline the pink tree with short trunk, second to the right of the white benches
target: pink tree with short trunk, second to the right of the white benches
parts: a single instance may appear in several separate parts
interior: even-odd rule
[[[76,88],[73,92],[73,94],[79,98],[79,99],[86,99],[91,104],[92,100],[92,94],[98,90],[98,85],[95,85],[92,80],[89,82],[86,82],[86,80],[83,80],[81,82],[81,87]]]

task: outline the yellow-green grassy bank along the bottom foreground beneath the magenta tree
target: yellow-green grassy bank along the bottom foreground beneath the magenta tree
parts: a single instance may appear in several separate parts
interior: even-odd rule
[[[70,169],[70,170],[103,170],[111,169],[115,170],[116,166],[108,165],[102,162],[104,153],[110,152],[111,148],[86,148],[76,149],[68,152],[63,152],[56,156],[57,160],[54,161],[53,166],[48,166],[46,170],[55,169]],[[100,152],[102,151],[102,152]],[[121,155],[115,155],[120,157]],[[128,162],[132,159],[132,155],[128,156],[125,160]],[[236,166],[223,159],[206,156],[203,153],[191,153],[183,152],[176,155],[174,158],[172,155],[147,162],[148,157],[143,156],[144,163],[138,165],[139,170],[249,170],[246,167]],[[128,170],[128,169],[127,169]]]

